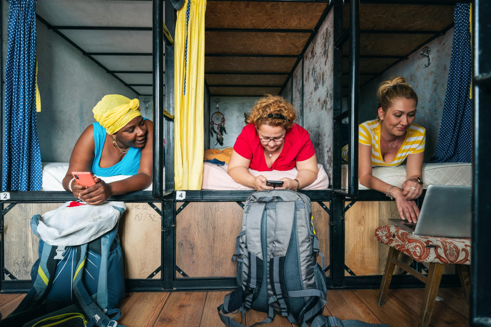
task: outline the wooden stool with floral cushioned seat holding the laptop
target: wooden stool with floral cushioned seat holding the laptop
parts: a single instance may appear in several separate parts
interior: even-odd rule
[[[456,265],[468,305],[470,290],[468,265],[471,264],[471,239],[413,235],[397,226],[377,227],[375,237],[379,242],[390,246],[377,305],[384,305],[392,274],[395,266],[398,266],[426,284],[418,327],[429,326],[443,268],[447,264]],[[399,252],[409,255],[417,262],[428,264],[428,275],[423,275],[399,261],[397,259]]]

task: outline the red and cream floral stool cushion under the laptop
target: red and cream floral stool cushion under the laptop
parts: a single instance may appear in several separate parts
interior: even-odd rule
[[[471,264],[471,239],[413,235],[394,225],[377,227],[375,238],[418,262]]]

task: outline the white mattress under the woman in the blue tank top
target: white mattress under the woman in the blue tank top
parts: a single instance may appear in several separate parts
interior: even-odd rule
[[[43,162],[42,164],[42,186],[41,191],[65,191],[61,181],[68,171],[68,162]],[[97,176],[97,175],[96,175]],[[106,183],[115,182],[130,177],[130,175],[117,175],[110,177],[97,176]],[[151,191],[152,185],[144,191]]]

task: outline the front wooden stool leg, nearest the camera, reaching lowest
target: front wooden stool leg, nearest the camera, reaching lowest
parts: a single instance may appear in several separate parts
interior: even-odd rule
[[[443,264],[430,263],[428,271],[428,279],[425,287],[425,297],[419,313],[418,327],[427,327],[430,325],[430,318],[435,307],[436,294],[440,287],[441,275],[443,273]]]

